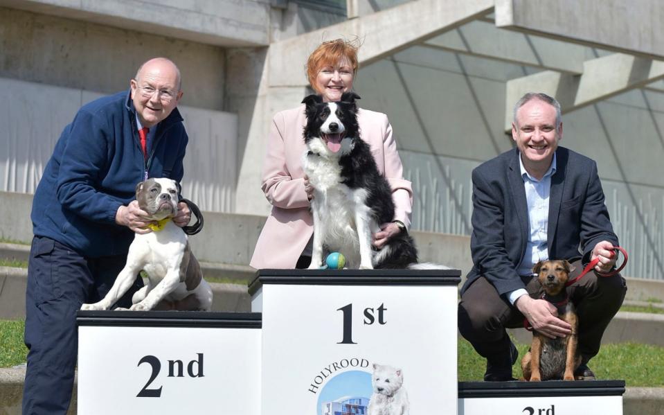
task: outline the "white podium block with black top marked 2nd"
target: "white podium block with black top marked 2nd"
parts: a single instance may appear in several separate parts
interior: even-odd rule
[[[258,313],[78,312],[78,414],[260,414]]]

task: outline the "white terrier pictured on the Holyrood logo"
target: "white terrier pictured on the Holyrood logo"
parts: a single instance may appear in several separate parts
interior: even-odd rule
[[[408,393],[402,387],[404,374],[386,364],[373,364],[373,395],[367,415],[409,415]]]

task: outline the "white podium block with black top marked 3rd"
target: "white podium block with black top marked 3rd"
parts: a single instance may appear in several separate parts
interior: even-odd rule
[[[459,382],[458,415],[622,415],[624,380]]]

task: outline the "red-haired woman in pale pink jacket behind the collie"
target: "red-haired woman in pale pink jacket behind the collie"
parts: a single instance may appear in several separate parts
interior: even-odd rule
[[[336,39],[323,42],[309,55],[307,77],[323,100],[337,101],[352,90],[357,67],[357,46]],[[382,224],[382,230],[374,234],[374,245],[380,248],[409,228],[413,191],[411,182],[403,177],[387,116],[361,108],[357,121],[361,139],[370,145],[378,170],[392,187],[396,206],[393,222]],[[306,123],[305,105],[278,112],[272,119],[262,190],[273,207],[251,258],[250,265],[256,269],[306,268],[311,263],[313,218],[309,206],[313,189],[302,169]]]

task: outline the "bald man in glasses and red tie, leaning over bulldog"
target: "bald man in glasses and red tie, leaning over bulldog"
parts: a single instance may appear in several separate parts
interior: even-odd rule
[[[28,263],[28,367],[24,414],[66,414],[78,348],[76,311],[102,299],[122,270],[134,233],[150,220],[134,200],[138,182],[180,182],[188,136],[175,108],[180,73],[165,58],[148,60],[129,91],[84,105],[55,145],[33,200]],[[190,220],[180,203],[173,221]],[[129,307],[136,279],[117,306]]]

